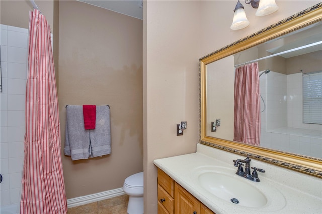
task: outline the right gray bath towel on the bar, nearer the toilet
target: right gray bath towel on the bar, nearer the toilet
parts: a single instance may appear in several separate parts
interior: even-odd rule
[[[90,130],[91,156],[111,153],[111,126],[109,106],[96,106],[95,129]]]

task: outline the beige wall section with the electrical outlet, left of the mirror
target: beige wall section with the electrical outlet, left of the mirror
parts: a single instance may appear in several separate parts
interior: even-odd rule
[[[144,2],[144,213],[157,213],[153,160],[196,151],[198,1]],[[187,121],[182,136],[176,124]]]

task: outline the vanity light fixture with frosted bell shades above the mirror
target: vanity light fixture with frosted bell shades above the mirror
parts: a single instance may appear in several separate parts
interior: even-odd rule
[[[250,4],[253,8],[257,8],[256,16],[265,16],[274,13],[278,9],[275,0],[245,0],[245,3]],[[247,27],[249,23],[244,7],[238,0],[230,28],[232,30],[239,30]]]

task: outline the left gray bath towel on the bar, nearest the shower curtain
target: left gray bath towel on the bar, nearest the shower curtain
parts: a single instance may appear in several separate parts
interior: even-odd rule
[[[84,128],[83,106],[66,107],[65,155],[72,160],[88,159],[90,154],[90,130]]]

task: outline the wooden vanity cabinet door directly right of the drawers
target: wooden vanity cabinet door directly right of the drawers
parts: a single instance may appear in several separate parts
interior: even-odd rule
[[[175,183],[175,213],[199,214],[200,202],[179,184]]]

